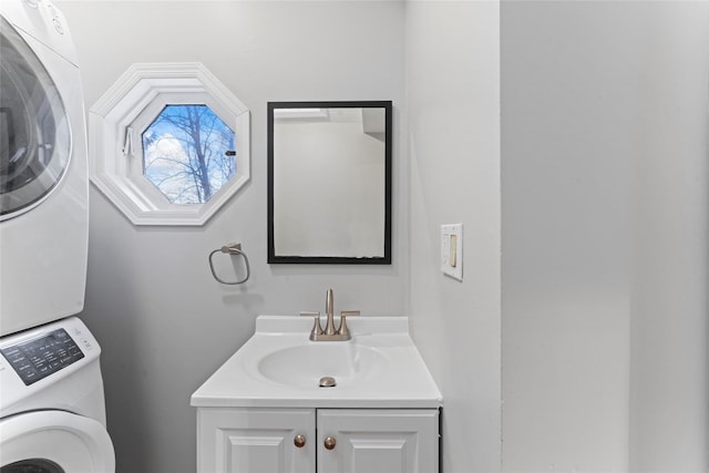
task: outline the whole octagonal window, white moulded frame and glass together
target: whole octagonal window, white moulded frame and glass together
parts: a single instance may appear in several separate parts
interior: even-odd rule
[[[133,64],[89,111],[92,183],[135,225],[203,225],[249,179],[249,111],[199,63]]]

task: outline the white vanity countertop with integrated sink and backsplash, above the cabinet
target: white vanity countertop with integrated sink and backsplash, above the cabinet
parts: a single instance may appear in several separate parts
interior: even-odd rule
[[[259,316],[256,333],[192,394],[192,405],[442,405],[441,393],[409,336],[405,317],[352,317],[347,322],[351,340],[314,342],[308,339],[310,317]],[[320,388],[323,376],[332,376],[337,385]]]

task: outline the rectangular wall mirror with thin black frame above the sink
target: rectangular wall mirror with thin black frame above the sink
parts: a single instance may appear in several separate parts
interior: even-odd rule
[[[391,101],[268,103],[268,263],[391,264]]]

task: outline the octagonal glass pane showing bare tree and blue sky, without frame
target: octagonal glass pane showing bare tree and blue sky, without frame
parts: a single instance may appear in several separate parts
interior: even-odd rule
[[[235,134],[207,105],[167,105],[142,134],[143,175],[172,204],[204,204],[236,171]]]

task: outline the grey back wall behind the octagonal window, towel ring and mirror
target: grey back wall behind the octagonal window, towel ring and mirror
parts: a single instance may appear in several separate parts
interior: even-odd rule
[[[258,313],[405,309],[405,166],[394,138],[392,266],[266,264],[266,103],[392,100],[402,130],[402,2],[61,1],[91,106],[133,62],[201,61],[251,110],[251,181],[202,228],[134,227],[94,187],[86,305],[103,348],[119,472],[195,469],[189,395]],[[327,198],[327,195],[323,195]],[[225,287],[207,254],[242,241],[251,279]]]

